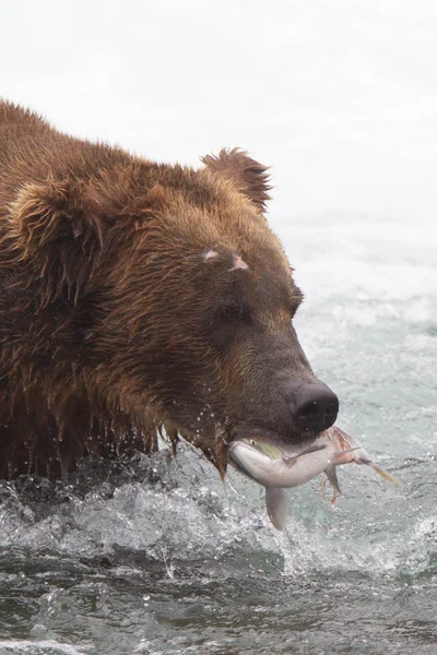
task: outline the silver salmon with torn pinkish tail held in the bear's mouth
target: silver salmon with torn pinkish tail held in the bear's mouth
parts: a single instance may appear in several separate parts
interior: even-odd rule
[[[298,487],[324,472],[340,495],[336,466],[366,464],[385,480],[395,485],[401,481],[373,462],[363,445],[343,430],[333,426],[317,439],[298,444],[284,444],[272,438],[237,439],[227,446],[231,464],[252,480],[265,487],[265,505],[276,529],[283,529],[288,514],[284,488]]]

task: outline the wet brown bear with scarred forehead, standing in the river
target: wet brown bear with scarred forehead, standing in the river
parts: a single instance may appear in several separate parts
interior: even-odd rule
[[[223,476],[236,437],[334,422],[269,190],[239,150],[156,164],[0,102],[0,477],[150,452],[163,428]]]

